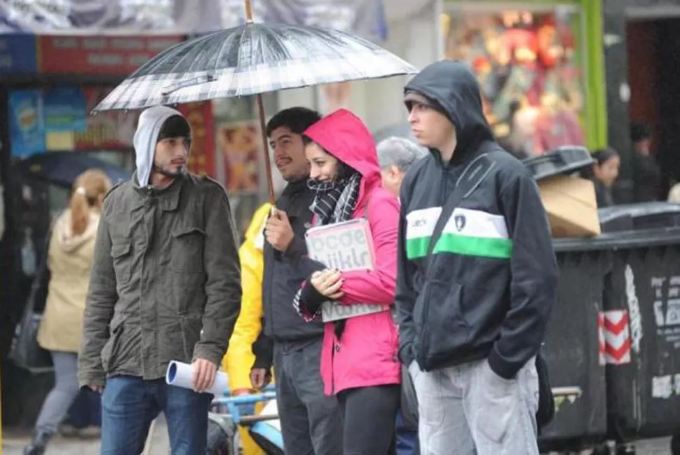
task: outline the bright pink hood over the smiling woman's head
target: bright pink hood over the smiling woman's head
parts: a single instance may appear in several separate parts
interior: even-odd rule
[[[376,145],[364,122],[347,109],[338,109],[304,131],[304,135],[362,175],[362,189],[380,182]],[[360,195],[361,198],[361,195]]]

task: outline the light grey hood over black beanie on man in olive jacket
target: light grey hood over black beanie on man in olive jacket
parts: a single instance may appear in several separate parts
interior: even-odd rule
[[[177,135],[174,137],[184,136],[184,133],[187,131],[191,135],[191,128],[189,128],[189,123],[186,122],[186,119],[184,119],[184,122],[172,120],[168,123],[168,128],[176,131],[176,133],[172,133],[168,128],[164,128],[165,122],[174,116],[184,119],[181,112],[166,106],[149,107],[149,109],[145,109],[140,114],[137,132],[132,139],[137,157],[136,183],[139,186],[149,185],[149,177],[151,177],[151,169],[154,166],[154,154],[156,153],[156,143],[158,143],[158,140],[172,137],[173,134]],[[161,130],[163,130],[163,135],[161,135]]]

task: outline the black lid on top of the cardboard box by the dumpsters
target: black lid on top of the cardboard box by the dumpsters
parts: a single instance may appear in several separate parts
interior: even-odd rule
[[[525,158],[522,163],[531,171],[533,179],[540,180],[555,175],[571,174],[592,166],[595,160],[585,147],[569,145]]]

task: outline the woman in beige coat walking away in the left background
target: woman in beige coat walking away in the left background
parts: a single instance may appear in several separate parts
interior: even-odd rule
[[[47,395],[25,455],[42,455],[78,396],[77,354],[83,332],[83,312],[90,282],[95,237],[109,177],[88,170],[74,182],[69,208],[53,224],[47,251],[50,271],[45,312],[38,344],[50,351],[55,386]]]

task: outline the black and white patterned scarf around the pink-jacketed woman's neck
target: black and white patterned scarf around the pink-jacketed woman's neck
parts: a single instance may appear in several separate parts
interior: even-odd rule
[[[351,219],[359,197],[360,182],[361,174],[356,171],[335,182],[309,180],[309,189],[316,194],[310,207],[316,215],[315,224],[322,226]]]

